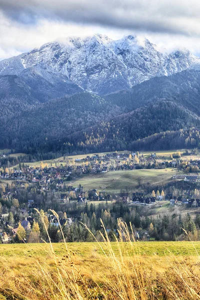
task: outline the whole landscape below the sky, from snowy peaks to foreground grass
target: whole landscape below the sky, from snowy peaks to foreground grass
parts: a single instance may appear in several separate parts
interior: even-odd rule
[[[102,34],[0,61],[0,299],[199,298],[199,65]]]

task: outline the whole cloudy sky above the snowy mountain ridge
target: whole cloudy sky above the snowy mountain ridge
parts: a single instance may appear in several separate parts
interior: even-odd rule
[[[199,0],[0,0],[0,60],[66,36],[133,34],[200,56]]]

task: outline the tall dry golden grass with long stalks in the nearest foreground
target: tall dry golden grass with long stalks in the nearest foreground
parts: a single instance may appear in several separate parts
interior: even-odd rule
[[[39,213],[39,211],[37,211]],[[51,212],[57,217],[55,211]],[[42,218],[42,216],[41,216]],[[43,220],[47,235],[48,231]],[[167,253],[165,259],[166,270],[155,271],[147,255],[141,255],[139,247],[135,247],[134,232],[129,225],[118,219],[118,234],[115,242],[109,241],[103,222],[101,233],[103,242],[98,242],[93,233],[84,224],[93,238],[101,254],[92,256],[92,263],[96,263],[95,277],[84,274],[75,261],[75,253],[71,253],[64,240],[65,255],[58,256],[49,239],[50,260],[44,261],[33,258],[34,267],[20,273],[10,268],[4,259],[0,267],[0,299],[27,300],[197,300],[200,299],[200,270],[199,256],[193,260],[189,257],[176,257]],[[114,246],[113,246],[114,245]],[[166,249],[167,252],[167,249]],[[96,255],[96,256],[95,256]],[[160,256],[157,255],[157,259]],[[96,259],[96,262],[95,262]],[[99,263],[100,259],[100,263]],[[153,261],[155,259],[152,258]],[[23,260],[25,264],[25,261]],[[100,266],[106,270],[102,273]],[[34,269],[34,272],[32,271]],[[98,275],[99,273],[99,275]],[[6,277],[5,277],[6,276]]]

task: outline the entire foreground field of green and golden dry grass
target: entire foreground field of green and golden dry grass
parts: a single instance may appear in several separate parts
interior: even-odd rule
[[[200,242],[0,245],[2,299],[200,299]]]

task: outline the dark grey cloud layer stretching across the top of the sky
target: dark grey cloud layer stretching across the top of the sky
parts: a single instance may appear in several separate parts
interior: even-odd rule
[[[160,33],[200,35],[199,0],[0,0],[1,11],[22,23],[60,19]]]

